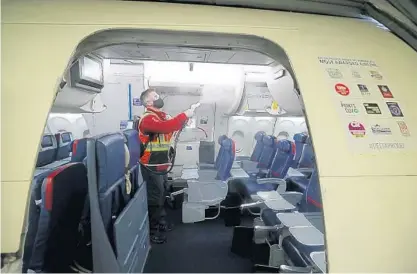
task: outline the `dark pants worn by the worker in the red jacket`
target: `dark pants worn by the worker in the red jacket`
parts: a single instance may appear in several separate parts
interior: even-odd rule
[[[166,215],[165,204],[165,176],[151,173],[141,167],[143,180],[146,182],[148,194],[148,212],[151,227],[158,225]]]

